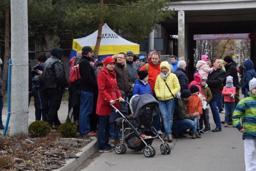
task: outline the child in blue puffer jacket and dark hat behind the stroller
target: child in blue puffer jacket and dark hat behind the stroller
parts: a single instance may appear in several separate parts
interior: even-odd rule
[[[132,90],[132,95],[142,95],[142,94],[151,94],[152,90],[150,85],[148,84],[148,72],[142,70],[138,72],[139,78],[135,80],[134,87]]]

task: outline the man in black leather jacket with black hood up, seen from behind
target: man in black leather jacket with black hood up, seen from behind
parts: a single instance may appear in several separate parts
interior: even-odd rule
[[[62,49],[52,48],[51,57],[44,62],[43,66],[42,86],[50,100],[47,122],[52,129],[57,129],[61,124],[58,118],[58,110],[65,87],[67,87],[66,74],[61,62],[62,54]]]

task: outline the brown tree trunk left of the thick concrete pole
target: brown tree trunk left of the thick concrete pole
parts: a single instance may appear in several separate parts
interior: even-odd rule
[[[5,10],[5,35],[4,35],[4,68],[2,74],[2,90],[6,90],[7,76],[8,76],[8,60],[10,58],[10,10]]]

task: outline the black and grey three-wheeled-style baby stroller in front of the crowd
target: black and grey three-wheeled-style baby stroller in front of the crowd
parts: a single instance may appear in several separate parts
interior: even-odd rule
[[[125,103],[128,102],[125,101]],[[122,124],[122,141],[115,146],[116,154],[125,153],[127,145],[129,149],[134,151],[141,151],[143,149],[146,157],[153,157],[156,154],[156,149],[152,146],[152,142],[157,137],[163,142],[160,145],[161,153],[170,154],[170,146],[163,141],[153,127],[152,117],[158,112],[158,101],[150,94],[143,94],[134,95],[128,104],[133,116],[127,115],[126,112],[122,113],[110,103],[115,112],[120,114],[120,118],[116,119],[114,124]],[[130,133],[126,135],[129,130]],[[144,130],[143,133],[141,133],[142,130]]]

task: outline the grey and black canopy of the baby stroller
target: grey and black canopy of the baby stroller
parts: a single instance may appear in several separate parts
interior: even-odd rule
[[[139,117],[146,109],[146,105],[153,107],[152,116],[158,113],[159,103],[150,94],[134,95],[130,99],[130,108],[135,117]]]

